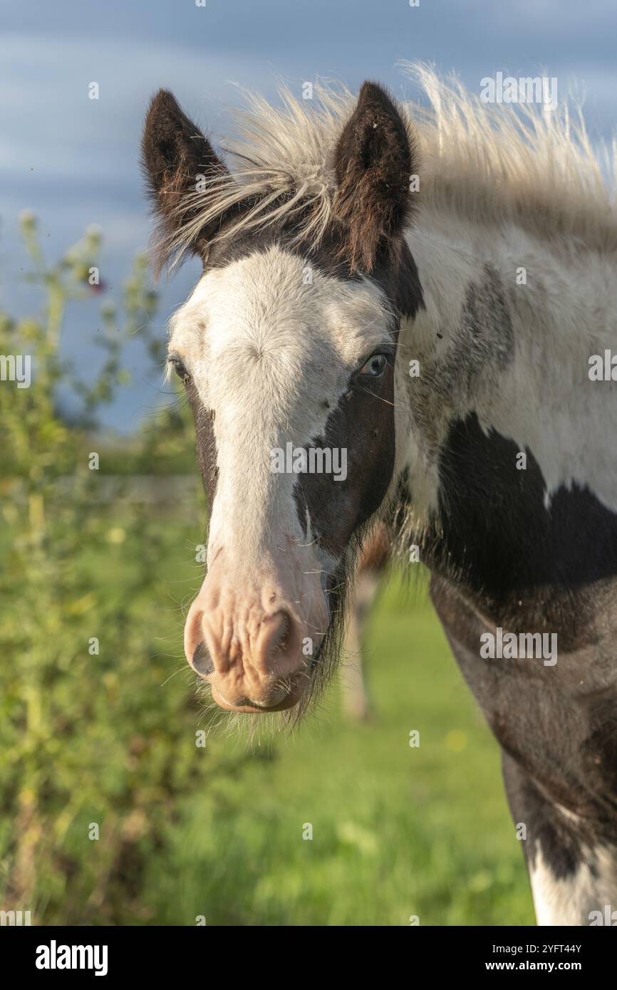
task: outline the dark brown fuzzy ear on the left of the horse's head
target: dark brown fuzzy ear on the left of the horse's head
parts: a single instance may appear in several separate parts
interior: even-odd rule
[[[163,245],[198,215],[197,176],[209,178],[229,174],[207,138],[182,112],[173,94],[165,89],[156,93],[146,117],[142,163],[161,220]],[[200,231],[194,243],[196,251],[201,250],[208,233]],[[164,257],[159,257],[157,266],[160,267],[163,261]]]

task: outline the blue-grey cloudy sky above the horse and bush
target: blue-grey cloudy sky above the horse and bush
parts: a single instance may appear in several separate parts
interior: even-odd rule
[[[150,97],[171,89],[188,115],[223,140],[238,86],[276,99],[280,81],[301,93],[318,76],[358,89],[368,78],[413,96],[400,59],[456,71],[478,92],[483,77],[546,74],[560,94],[584,93],[592,137],[617,124],[617,4],[614,0],[0,0],[0,309],[40,308],[23,280],[23,210],[38,216],[50,259],[85,227],[104,236],[101,278],[119,292],[149,216],[139,143]],[[99,85],[99,99],[88,85]],[[159,284],[155,317],[166,321],[197,280],[190,260]],[[69,312],[63,352],[93,374],[94,303]],[[104,425],[136,430],[168,387],[135,341],[133,381]]]

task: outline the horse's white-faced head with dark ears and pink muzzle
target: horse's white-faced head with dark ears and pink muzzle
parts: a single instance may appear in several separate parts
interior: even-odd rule
[[[397,334],[421,305],[413,148],[370,83],[317,176],[292,160],[231,174],[163,91],[143,148],[164,245],[204,264],[168,347],[210,505],[186,658],[223,708],[279,711],[311,694],[352,549],[397,482]]]

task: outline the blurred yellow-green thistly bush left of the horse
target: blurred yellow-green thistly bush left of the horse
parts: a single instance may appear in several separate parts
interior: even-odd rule
[[[33,369],[28,388],[0,381],[0,907],[32,910],[33,924],[144,924],[145,864],[164,853],[177,796],[212,772],[195,744],[179,616],[172,667],[186,673],[161,690],[171,654],[155,640],[165,594],[155,575],[173,545],[177,556],[177,531],[143,507],[101,506],[91,469],[97,413],[128,380],[127,341],[140,335],[161,361],[149,329],[156,296],[138,256],[122,301],[106,301],[96,229],[52,266],[30,215],[22,234],[44,315],[0,312],[0,354],[30,354]],[[98,295],[103,355],[86,384],[60,340],[67,304]],[[70,425],[60,388],[79,400]],[[192,446],[183,411],[165,421],[132,442],[134,470],[164,473]],[[195,574],[194,550],[182,552]]]

